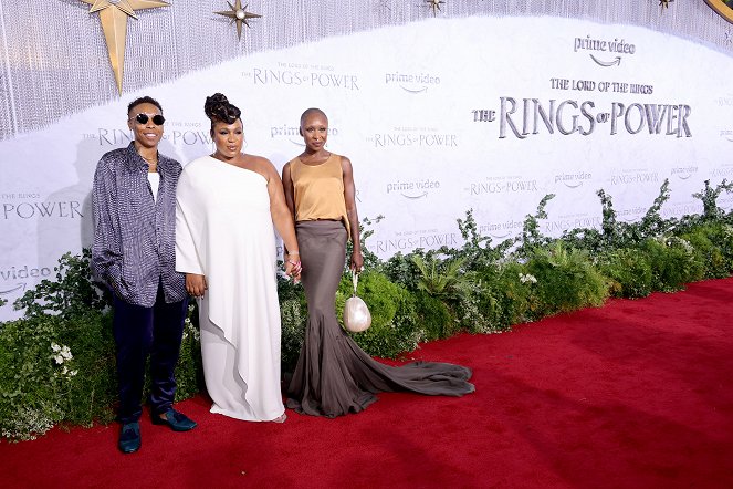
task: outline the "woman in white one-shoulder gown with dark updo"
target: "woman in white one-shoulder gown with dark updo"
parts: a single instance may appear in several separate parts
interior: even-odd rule
[[[300,278],[293,218],[272,163],[245,155],[240,111],[207,97],[216,152],[184,168],[176,195],[176,270],[199,298],[201,354],[212,413],[284,422],[274,228]]]

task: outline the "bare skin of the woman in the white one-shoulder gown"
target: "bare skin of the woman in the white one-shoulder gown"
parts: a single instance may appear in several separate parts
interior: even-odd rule
[[[217,145],[217,150],[211,155],[213,158],[255,171],[268,181],[272,222],[282,237],[286,249],[291,250],[291,254],[285,257],[285,274],[297,282],[301,279],[301,261],[297,254],[293,216],[287,208],[278,170],[269,159],[242,153],[244,143],[242,121],[237,119],[233,124],[217,122],[211,129],[211,137]],[[203,296],[207,289],[206,277],[197,273],[186,273],[186,290],[189,294],[200,298]]]

